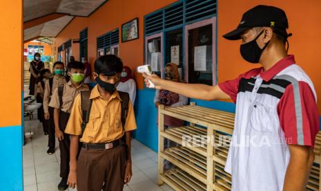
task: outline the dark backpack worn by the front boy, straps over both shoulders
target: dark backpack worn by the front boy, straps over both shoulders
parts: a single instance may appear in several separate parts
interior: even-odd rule
[[[86,124],[89,121],[91,106],[93,104],[93,100],[90,100],[90,93],[91,90],[88,91],[81,91],[80,92],[80,98],[81,98],[81,112],[82,112],[82,124],[81,124],[81,132],[84,133]],[[128,104],[129,104],[129,94],[126,92],[118,91],[119,96],[121,98],[121,124],[123,125],[123,129],[125,128],[126,124],[126,117],[128,113]],[[128,145],[126,145],[126,137],[125,134],[121,138],[125,143],[125,149],[126,149],[126,159],[128,159]]]

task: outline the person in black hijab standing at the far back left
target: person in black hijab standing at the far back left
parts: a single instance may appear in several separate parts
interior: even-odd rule
[[[40,78],[40,71],[45,68],[45,65],[40,60],[41,55],[35,53],[34,60],[30,62],[30,84],[29,84],[29,95],[35,95],[35,85]]]

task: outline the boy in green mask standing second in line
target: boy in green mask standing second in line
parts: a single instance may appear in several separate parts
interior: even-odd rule
[[[79,95],[80,91],[87,91],[88,86],[83,83],[85,74],[85,66],[81,62],[69,62],[70,81],[64,86],[58,87],[52,93],[52,98],[49,107],[54,108],[55,121],[55,136],[59,140],[60,149],[60,177],[61,181],[58,185],[59,190],[66,190],[68,188],[67,179],[69,174],[70,162],[70,138],[68,134],[64,133],[66,125],[72,109],[72,104]]]

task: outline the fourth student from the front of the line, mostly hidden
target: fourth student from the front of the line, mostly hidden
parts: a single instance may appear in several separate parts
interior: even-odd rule
[[[43,133],[47,136],[48,135],[48,122],[44,118],[44,111],[43,111],[43,89],[45,88],[45,84],[47,80],[52,78],[52,73],[49,69],[43,69],[40,71],[41,77],[39,78],[40,82],[37,84],[37,97],[36,100],[38,103],[41,103],[41,107],[39,107],[37,115],[39,121],[42,123]]]

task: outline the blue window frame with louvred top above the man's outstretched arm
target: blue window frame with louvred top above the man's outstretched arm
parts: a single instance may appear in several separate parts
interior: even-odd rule
[[[185,27],[191,24],[198,23],[200,21],[204,21],[206,19],[213,19],[217,16],[217,0],[181,0],[177,1],[175,3],[172,3],[169,6],[166,6],[164,8],[161,8],[159,10],[156,10],[155,12],[152,12],[148,15],[145,15],[144,17],[144,39],[148,39],[148,37],[155,35],[155,34],[162,34],[162,43],[164,44],[163,50],[162,50],[162,66],[164,67],[166,63],[171,60],[171,50],[168,50],[168,48],[171,48],[171,36],[170,33],[173,33],[174,31],[182,30],[182,47],[179,47],[179,68],[182,69],[182,78],[184,78],[188,66],[185,66],[186,60],[188,60],[188,57],[186,57],[186,53],[188,51],[185,50],[187,46],[187,39],[186,39],[186,29]],[[217,30],[217,28],[215,29]],[[213,35],[215,35],[215,39],[217,39],[216,31],[213,31]],[[177,35],[179,36],[179,35]],[[144,44],[144,53],[146,54],[148,50],[148,47],[146,47],[146,43]],[[213,46],[217,46],[216,40],[215,44]],[[217,48],[215,48],[217,50]],[[217,53],[215,53],[217,54]],[[215,57],[215,56],[214,56]],[[145,63],[149,63],[148,60],[145,58]],[[182,59],[182,60],[180,60]],[[215,57],[214,60],[215,67],[217,65],[217,60]],[[217,78],[216,71],[211,71],[213,73],[214,78],[211,78],[211,75],[208,75],[208,80],[212,80],[213,84],[215,84]],[[186,75],[186,78],[188,75]],[[206,76],[204,77],[206,78]],[[188,81],[188,78],[185,79]]]

